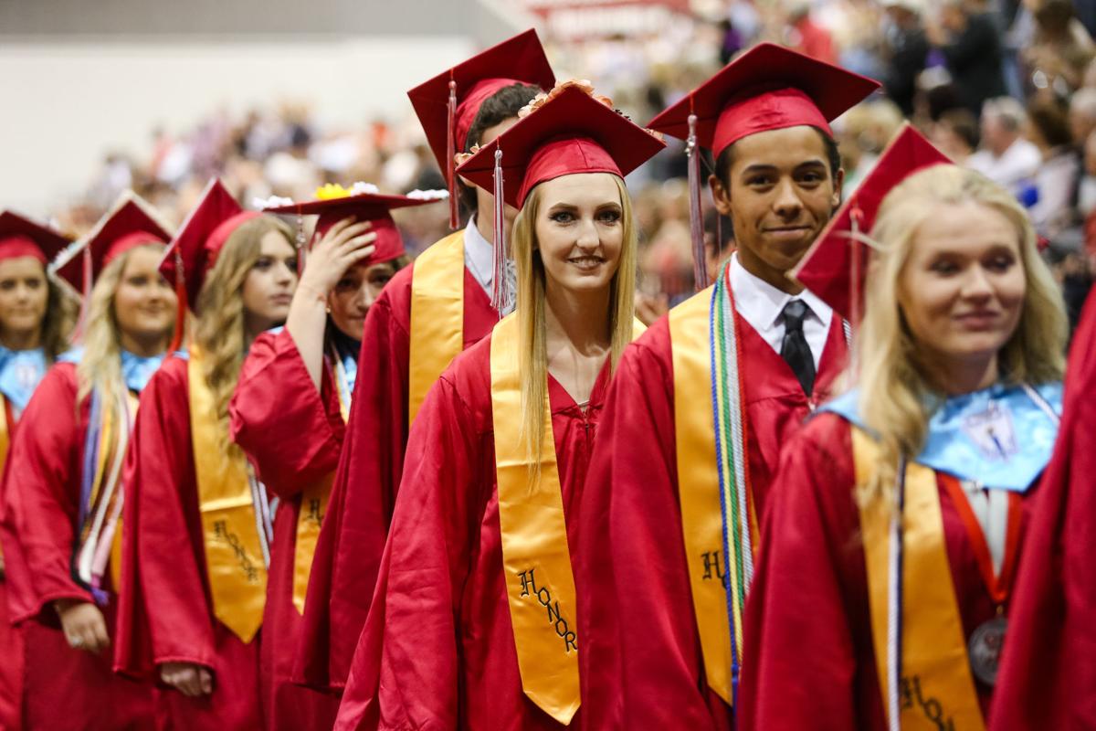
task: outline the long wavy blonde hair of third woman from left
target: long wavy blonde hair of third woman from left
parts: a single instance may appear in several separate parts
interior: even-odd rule
[[[225,455],[239,449],[228,438],[228,402],[243,365],[243,282],[262,255],[263,237],[271,231],[293,245],[293,230],[277,218],[267,215],[244,221],[225,241],[198,293],[194,341],[204,356],[205,380],[213,392]]]

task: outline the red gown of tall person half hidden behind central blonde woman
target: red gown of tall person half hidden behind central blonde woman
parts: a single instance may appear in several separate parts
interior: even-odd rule
[[[295,675],[313,687],[345,685],[403,471],[412,271],[413,265],[397,272],[365,320],[346,439],[305,601]],[[465,267],[464,347],[498,321],[487,293]]]

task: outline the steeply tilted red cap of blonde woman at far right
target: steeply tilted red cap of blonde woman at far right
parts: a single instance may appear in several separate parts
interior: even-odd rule
[[[791,276],[854,325],[859,324],[868,248],[857,235],[866,235],[875,226],[879,205],[891,189],[918,170],[950,162],[905,123],[856,192],[822,229]]]

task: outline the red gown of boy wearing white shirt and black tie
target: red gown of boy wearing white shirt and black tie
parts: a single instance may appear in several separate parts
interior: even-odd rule
[[[808,400],[780,355],[735,318],[744,354],[750,476],[761,519],[780,447],[813,403],[826,398],[847,349],[835,317]],[[696,408],[711,407],[706,401]],[[730,709],[706,684],[694,618],[677,498],[666,318],[620,359],[584,501],[575,581],[589,728],[731,728]]]

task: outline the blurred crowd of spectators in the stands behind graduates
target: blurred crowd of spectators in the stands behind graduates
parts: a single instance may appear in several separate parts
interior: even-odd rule
[[[732,0],[677,15],[657,35],[548,38],[560,78],[593,80],[646,122],[761,41],[781,43],[879,79],[883,93],[835,125],[845,193],[903,121],[954,160],[1013,190],[1044,237],[1071,308],[1096,259],[1096,0]],[[398,119],[321,128],[305,104],[281,102],[242,118],[220,111],[185,134],[150,130],[142,155],[111,153],[84,199],[55,212],[73,232],[133,187],[176,222],[217,174],[246,205],[308,198],[327,182],[388,192],[443,187],[408,106]],[[659,307],[693,290],[682,146],[633,174],[643,252],[639,289]],[[706,201],[713,255],[730,225]],[[401,212],[409,248],[446,231],[443,206]]]

